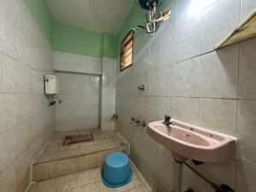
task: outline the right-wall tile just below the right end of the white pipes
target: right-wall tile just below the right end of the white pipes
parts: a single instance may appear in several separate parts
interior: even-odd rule
[[[169,32],[161,39],[160,66],[176,62],[177,32]]]

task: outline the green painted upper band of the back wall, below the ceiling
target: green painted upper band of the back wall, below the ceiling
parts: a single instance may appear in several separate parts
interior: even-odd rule
[[[117,37],[54,21],[54,49],[73,54],[116,58]]]

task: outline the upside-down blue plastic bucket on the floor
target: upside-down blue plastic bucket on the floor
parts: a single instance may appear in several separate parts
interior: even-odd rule
[[[130,160],[125,153],[108,154],[102,170],[102,182],[110,188],[123,186],[131,181]]]

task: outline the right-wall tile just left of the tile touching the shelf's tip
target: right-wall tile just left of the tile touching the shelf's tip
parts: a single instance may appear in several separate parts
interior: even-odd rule
[[[200,54],[201,17],[196,16],[177,29],[177,61]]]

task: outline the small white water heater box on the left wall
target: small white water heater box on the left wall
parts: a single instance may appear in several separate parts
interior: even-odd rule
[[[60,81],[55,75],[44,76],[44,90],[46,95],[57,95],[60,93]]]

